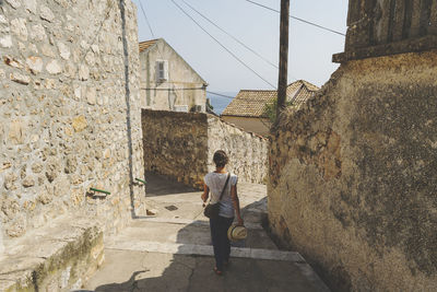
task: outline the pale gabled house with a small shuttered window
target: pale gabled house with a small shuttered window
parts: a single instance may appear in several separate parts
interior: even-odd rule
[[[146,108],[205,113],[208,83],[163,38],[141,42],[141,96]]]

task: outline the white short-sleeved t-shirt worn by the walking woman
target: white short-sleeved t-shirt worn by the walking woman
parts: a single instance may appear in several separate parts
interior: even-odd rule
[[[228,173],[209,173],[205,175],[204,183],[211,191],[211,203],[216,203],[218,201],[220,195],[222,194],[223,187],[225,186],[227,179],[227,174]],[[222,200],[220,201],[218,215],[225,218],[234,217],[235,210],[231,198],[231,186],[235,186],[237,182],[238,176],[231,173],[229,182],[227,183]]]

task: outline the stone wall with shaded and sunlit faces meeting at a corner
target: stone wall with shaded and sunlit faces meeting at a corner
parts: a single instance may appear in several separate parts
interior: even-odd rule
[[[202,188],[214,170],[213,153],[222,149],[241,180],[264,183],[268,140],[208,114],[143,109],[142,119],[146,171]]]

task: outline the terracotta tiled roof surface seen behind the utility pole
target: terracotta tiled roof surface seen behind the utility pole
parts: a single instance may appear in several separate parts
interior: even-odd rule
[[[295,81],[287,86],[287,102],[299,106],[318,90],[318,86],[305,80]],[[264,117],[265,105],[273,103],[275,98],[277,98],[276,91],[241,90],[223,110],[222,116]]]

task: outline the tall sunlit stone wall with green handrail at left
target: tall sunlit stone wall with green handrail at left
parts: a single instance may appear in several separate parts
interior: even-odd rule
[[[66,213],[122,225],[144,195],[130,184],[143,177],[134,5],[3,0],[0,49],[5,241]]]

